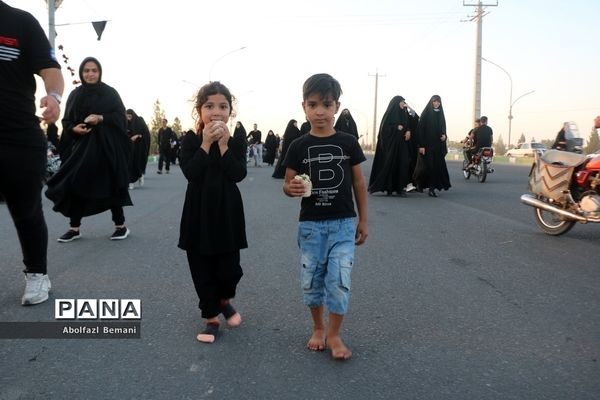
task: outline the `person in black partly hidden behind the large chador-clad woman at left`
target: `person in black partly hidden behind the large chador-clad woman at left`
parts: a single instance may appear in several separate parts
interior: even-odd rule
[[[150,131],[144,118],[138,116],[132,109],[127,110],[127,135],[131,140],[131,157],[129,158],[129,182],[144,185],[144,173],[148,163],[150,150]],[[133,185],[129,186],[133,189]]]

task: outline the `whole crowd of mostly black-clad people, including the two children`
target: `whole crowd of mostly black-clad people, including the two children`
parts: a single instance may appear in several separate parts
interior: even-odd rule
[[[40,105],[50,140],[58,137],[55,123],[64,81],[38,21],[1,0],[0,35],[20,46],[15,59],[0,59],[0,85],[11,89],[10,96],[0,99],[0,168],[5,171],[0,175],[0,193],[23,253],[22,304],[33,305],[46,301],[51,290],[41,199],[47,141],[35,115],[33,75],[41,76],[47,92]],[[134,185],[144,185],[150,131],[142,117],[125,108],[118,91],[102,80],[102,73],[98,59],[85,58],[79,66],[81,85],[65,102],[56,142],[61,165],[45,191],[53,210],[68,218],[68,230],[58,238],[61,243],[82,236],[84,217],[109,210],[114,223],[110,239],[127,238],[124,207],[133,205]],[[300,287],[312,324],[307,347],[329,348],[339,360],[352,355],[341,339],[341,327],[348,310],[355,246],[368,237],[368,194],[406,197],[408,192],[427,189],[430,197],[437,197],[439,191],[450,189],[440,96],[432,96],[420,116],[404,97],[390,100],[367,183],[356,122],[348,109],[339,112],[341,94],[341,85],[332,76],[309,77],[302,98],[306,121],[298,127],[298,121],[290,119],[281,138],[273,130],[263,137],[256,123],[246,132],[240,121],[230,132],[233,96],[220,82],[198,91],[195,131],[179,138],[168,120],[162,120],[157,174],[163,168],[169,174],[171,165],[179,161],[187,180],[178,247],[186,252],[204,319],[198,341],[216,340],[221,316],[229,327],[242,323],[232,299],[244,275],[240,251],[248,247],[238,183],[246,178],[249,163],[273,167],[272,177],[283,179],[285,195],[302,198],[297,242]],[[486,117],[476,121],[467,140],[471,143],[467,159],[478,148],[491,145]]]

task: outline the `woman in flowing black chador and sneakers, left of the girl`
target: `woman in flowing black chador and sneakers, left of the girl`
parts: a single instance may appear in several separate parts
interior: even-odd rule
[[[70,228],[59,242],[81,237],[81,219],[111,210],[115,232],[125,239],[123,206],[131,206],[129,183],[130,140],[125,107],[115,89],[102,82],[102,66],[88,57],[79,67],[81,86],[71,92],[62,120],[62,164],[48,181],[46,196],[54,211],[70,218]]]

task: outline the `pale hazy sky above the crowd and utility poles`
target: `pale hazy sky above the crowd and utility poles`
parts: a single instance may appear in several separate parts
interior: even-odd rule
[[[5,2],[48,29],[44,0]],[[511,75],[513,101],[534,91],[513,105],[512,143],[521,133],[553,138],[569,120],[587,138],[600,115],[600,2],[497,3],[483,20],[483,56]],[[56,23],[70,25],[57,26],[56,45],[75,69],[84,57],[97,57],[103,80],[147,121],[158,99],[170,121],[179,117],[192,127],[194,90],[212,79],[237,96],[247,129],[257,123],[283,134],[291,118],[304,120],[304,80],[327,72],[340,81],[342,108],[370,142],[378,72],[377,127],[393,96],[420,114],[439,94],[448,135],[460,140],[472,125],[473,13],[463,0],[64,0]],[[86,23],[96,20],[109,20],[101,41]],[[64,72],[69,92],[72,78]],[[481,112],[504,143],[509,91],[507,75],[483,62]]]

